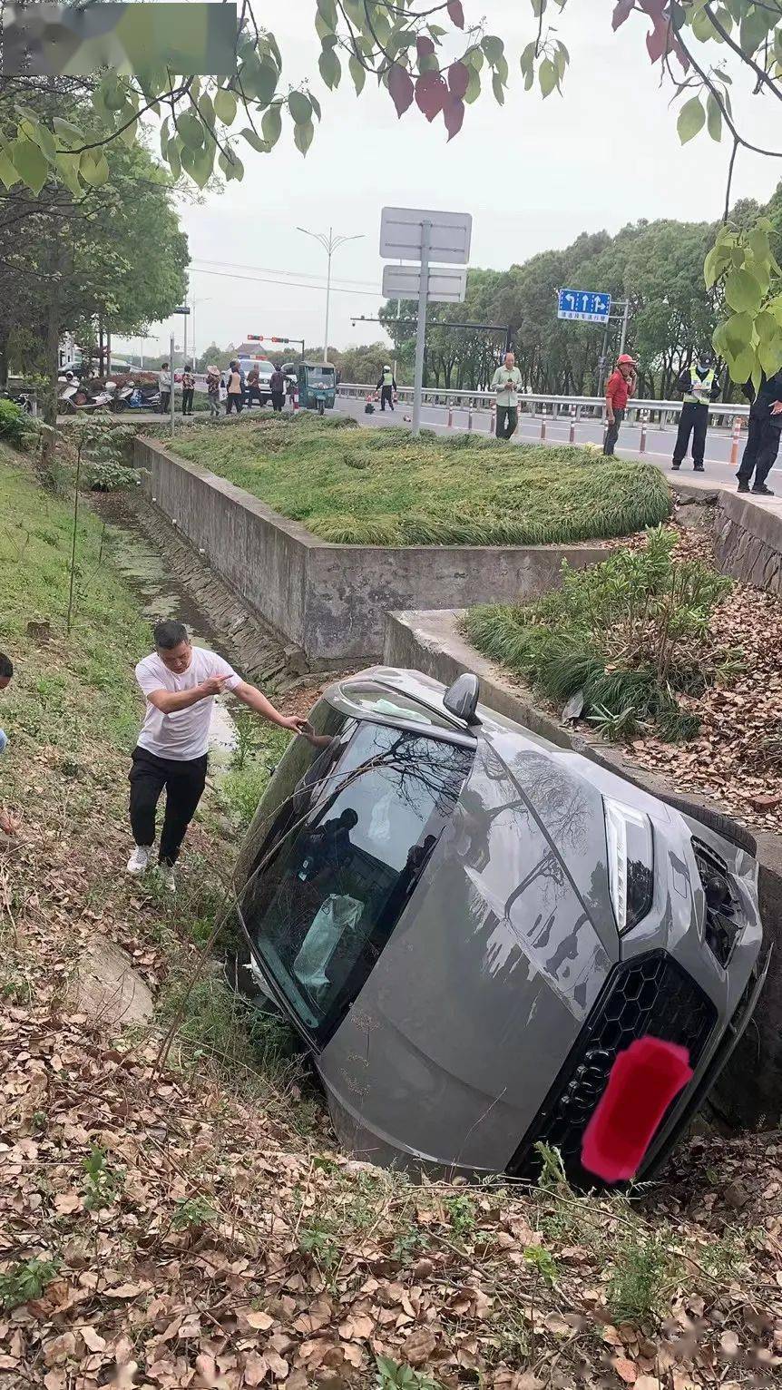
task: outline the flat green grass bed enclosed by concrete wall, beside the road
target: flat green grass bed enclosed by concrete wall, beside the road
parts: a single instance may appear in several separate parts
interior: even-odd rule
[[[346,416],[194,425],[185,459],[325,541],[353,545],[543,545],[629,535],[671,510],[651,464],[568,446],[508,448],[474,435],[361,430]]]

